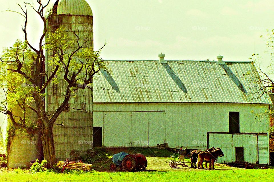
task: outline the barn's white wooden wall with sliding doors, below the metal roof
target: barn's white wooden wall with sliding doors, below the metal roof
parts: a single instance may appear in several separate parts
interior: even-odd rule
[[[229,112],[240,112],[240,132],[267,133],[268,118],[255,116],[265,110],[267,104],[94,103],[93,126],[103,127],[103,145],[108,147],[146,141],[151,129],[150,146],[165,139],[170,147],[202,149],[207,147],[207,132],[229,132]]]

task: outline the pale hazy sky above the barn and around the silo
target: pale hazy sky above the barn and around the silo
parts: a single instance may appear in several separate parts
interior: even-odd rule
[[[163,52],[167,60],[216,60],[221,54],[224,60],[248,61],[255,52],[263,67],[270,63],[266,38],[260,36],[274,28],[273,0],[86,1],[93,11],[94,49],[108,43],[104,59],[156,60]],[[24,0],[0,2],[2,48],[23,39],[23,19],[5,10],[19,10],[17,3]],[[33,43],[40,30],[34,17],[28,27]]]

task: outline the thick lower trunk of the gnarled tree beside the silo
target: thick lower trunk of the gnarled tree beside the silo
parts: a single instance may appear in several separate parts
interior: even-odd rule
[[[47,160],[47,168],[52,168],[56,164],[55,148],[53,141],[53,127],[45,128],[42,131],[42,144],[44,159]]]

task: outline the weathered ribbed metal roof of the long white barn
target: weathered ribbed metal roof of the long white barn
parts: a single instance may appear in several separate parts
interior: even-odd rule
[[[94,102],[221,102],[272,104],[255,86],[251,62],[106,60],[94,77]]]

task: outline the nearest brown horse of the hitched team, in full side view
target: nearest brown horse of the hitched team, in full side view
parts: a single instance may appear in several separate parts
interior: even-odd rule
[[[214,149],[211,152],[200,152],[198,154],[198,161],[196,163],[196,165],[198,165],[198,169],[200,169],[201,167],[202,169],[204,169],[204,166],[203,166],[204,160],[210,161],[209,169],[211,169],[211,166],[212,166],[212,169],[215,169],[214,163],[218,156],[220,157],[224,156],[223,151],[218,147],[217,149]]]

